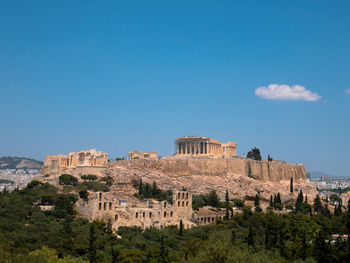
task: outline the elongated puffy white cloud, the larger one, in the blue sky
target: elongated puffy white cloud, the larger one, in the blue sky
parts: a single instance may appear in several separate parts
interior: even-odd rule
[[[268,87],[259,87],[255,90],[255,95],[268,100],[305,100],[317,101],[321,96],[313,93],[303,86],[270,84]]]

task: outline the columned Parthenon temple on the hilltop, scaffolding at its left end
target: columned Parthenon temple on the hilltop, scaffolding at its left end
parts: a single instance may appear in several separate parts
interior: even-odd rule
[[[236,156],[234,142],[221,143],[209,137],[185,136],[176,139],[177,155]]]

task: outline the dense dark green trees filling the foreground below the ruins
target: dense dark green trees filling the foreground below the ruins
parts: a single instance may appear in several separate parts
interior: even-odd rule
[[[350,262],[350,242],[331,236],[350,232],[349,206],[328,216],[244,207],[214,225],[120,227],[118,238],[108,222],[77,218],[76,200],[38,181],[1,194],[0,262]],[[40,210],[49,204],[53,210]]]

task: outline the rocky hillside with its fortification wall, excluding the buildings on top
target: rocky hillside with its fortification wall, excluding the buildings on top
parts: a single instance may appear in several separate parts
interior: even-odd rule
[[[316,188],[306,179],[304,165],[280,161],[253,161],[244,158],[166,157],[160,160],[121,161],[109,164],[101,172],[116,182],[128,183],[142,178],[144,183],[156,182],[163,189],[186,188],[194,194],[216,189],[223,199],[228,190],[231,198],[253,200],[260,195],[267,205],[271,195],[281,195],[284,203],[295,201],[299,189],[309,200]],[[290,178],[294,191],[290,193]]]

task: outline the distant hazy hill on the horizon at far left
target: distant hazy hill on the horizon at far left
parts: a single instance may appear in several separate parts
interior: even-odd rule
[[[30,158],[17,156],[0,157],[0,169],[40,169],[42,165],[43,162]]]

